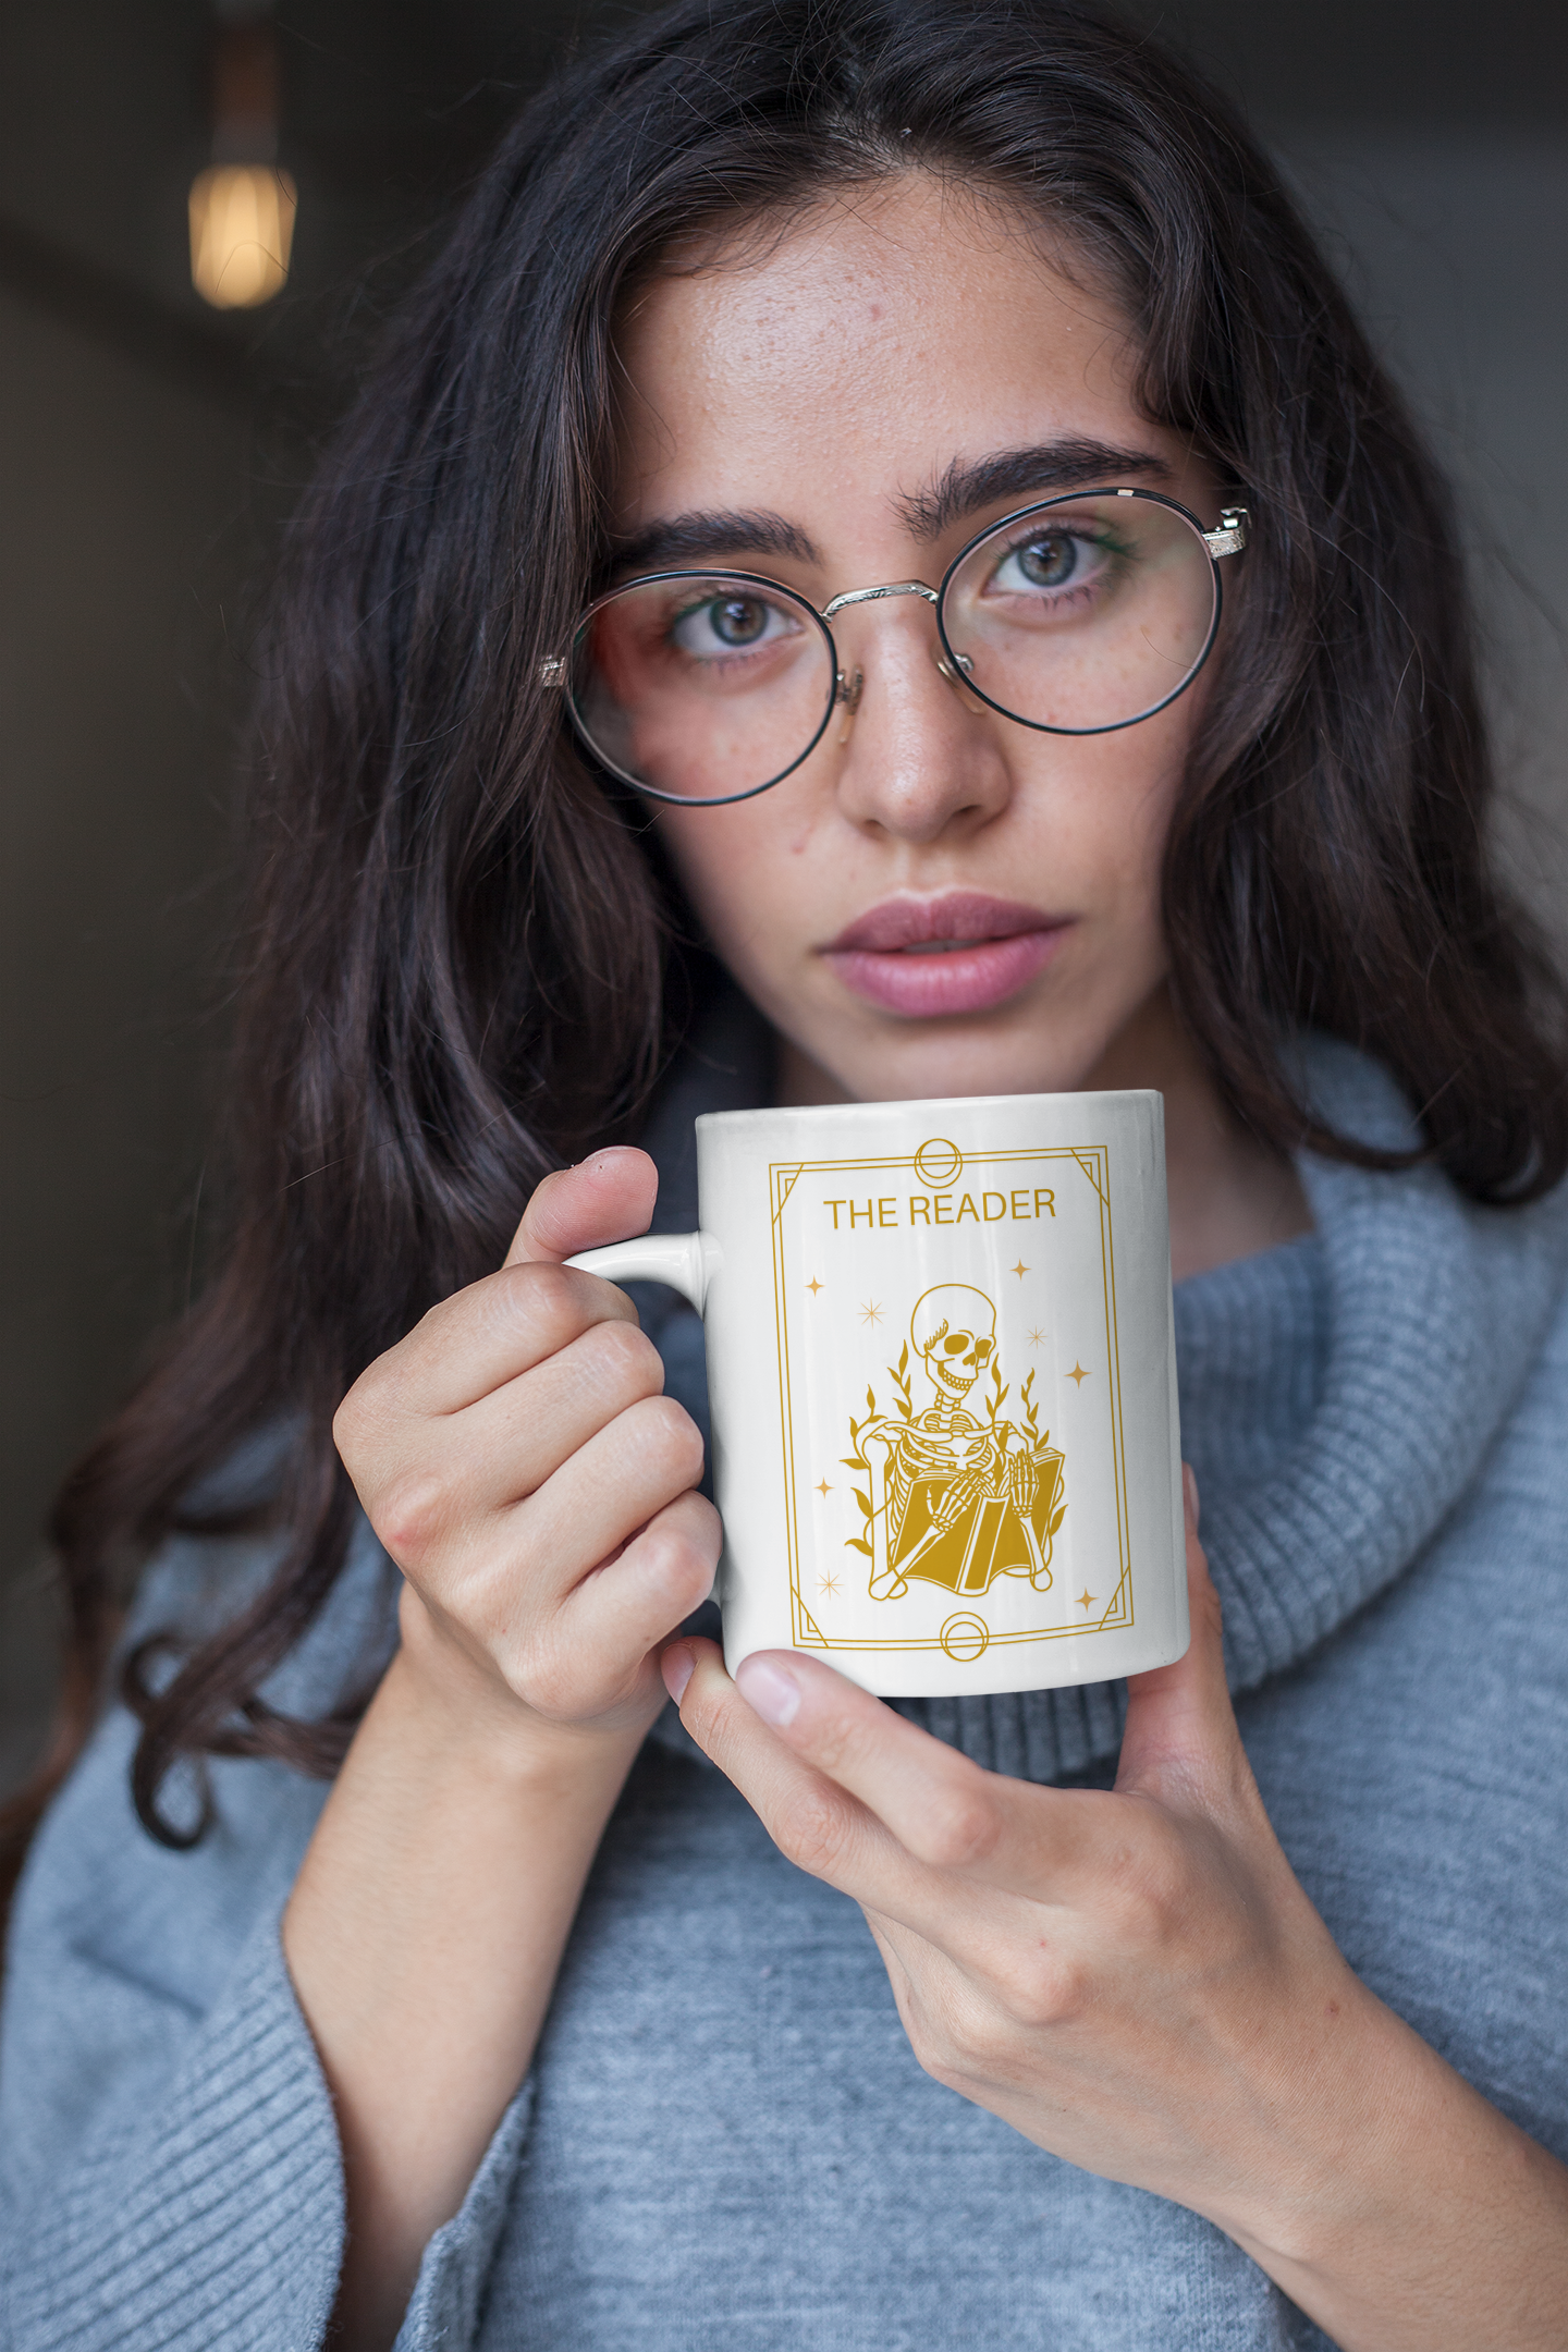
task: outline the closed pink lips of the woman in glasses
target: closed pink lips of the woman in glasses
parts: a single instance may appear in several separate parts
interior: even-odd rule
[[[1048,964],[1067,922],[1039,908],[950,891],[884,898],[823,948],[858,997],[912,1021],[978,1014],[1025,988]]]

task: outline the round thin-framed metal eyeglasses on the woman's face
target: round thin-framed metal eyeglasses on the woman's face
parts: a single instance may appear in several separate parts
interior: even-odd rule
[[[938,670],[1044,734],[1110,734],[1154,717],[1204,668],[1220,628],[1220,529],[1152,489],[1088,489],[1004,515],[954,555],[940,588],[849,588],[820,612],[757,572],[649,572],[597,597],[567,654],[543,663],[571,724],[654,800],[750,800],[809,760],[835,703],[856,710],[830,621],[917,595],[936,607]]]

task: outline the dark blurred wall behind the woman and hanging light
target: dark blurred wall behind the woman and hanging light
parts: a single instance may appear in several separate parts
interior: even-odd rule
[[[1281,155],[1460,482],[1505,851],[1563,934],[1568,12],[1124,5]],[[49,1491],[205,1263],[235,727],[277,522],[520,96],[632,14],[282,0],[294,268],[219,313],[186,240],[214,9],[0,12],[0,1785],[49,1708]]]

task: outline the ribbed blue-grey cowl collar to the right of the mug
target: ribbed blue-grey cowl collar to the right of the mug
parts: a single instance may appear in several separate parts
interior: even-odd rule
[[[1302,1065],[1340,1131],[1415,1141],[1399,1089],[1366,1056],[1314,1037]],[[1300,1176],[1321,1268],[1316,1395],[1267,1472],[1204,1491],[1237,1689],[1305,1658],[1420,1557],[1512,1416],[1568,1263],[1561,1190],[1479,1209],[1436,1169],[1389,1176],[1302,1155]],[[1182,1423],[1199,1446],[1213,1444],[1204,1421],[1248,1298],[1279,1296],[1288,1258],[1267,1251],[1178,1289]]]

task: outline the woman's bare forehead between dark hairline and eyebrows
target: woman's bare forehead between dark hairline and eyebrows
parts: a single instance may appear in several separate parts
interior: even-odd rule
[[[954,473],[1037,447],[1121,452],[1154,487],[1180,470],[1110,296],[926,176],[651,278],[618,355],[621,536],[722,508],[811,529],[844,501],[907,522]]]

